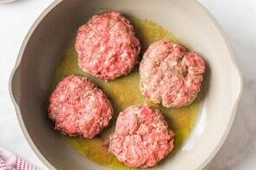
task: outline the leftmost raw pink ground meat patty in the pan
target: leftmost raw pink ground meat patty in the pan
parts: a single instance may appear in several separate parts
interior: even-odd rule
[[[56,86],[49,98],[49,118],[62,134],[93,138],[113,115],[104,92],[80,76],[69,76]]]

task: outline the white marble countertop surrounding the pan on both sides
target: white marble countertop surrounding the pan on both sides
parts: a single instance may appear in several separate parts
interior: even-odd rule
[[[0,4],[0,145],[46,169],[26,142],[10,101],[10,72],[30,26],[53,0]],[[256,169],[256,1],[200,0],[215,16],[233,46],[244,90],[233,128],[207,170]]]

